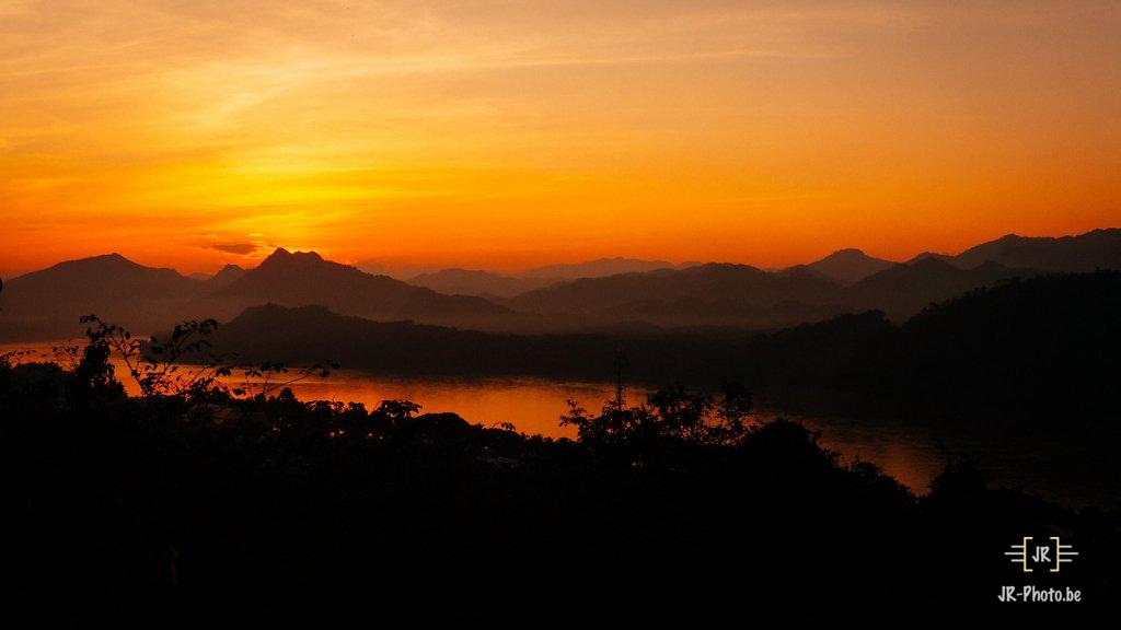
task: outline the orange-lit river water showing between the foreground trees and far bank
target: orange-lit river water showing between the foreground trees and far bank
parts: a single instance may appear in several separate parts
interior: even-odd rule
[[[50,344],[33,346],[3,346],[0,352],[16,348],[36,353],[49,350]],[[118,377],[129,393],[137,393],[123,365],[118,365]],[[242,383],[239,374],[224,382],[231,387]],[[334,400],[362,402],[373,408],[381,400],[405,399],[421,406],[421,411],[453,411],[469,423],[483,426],[512,424],[520,433],[547,437],[575,437],[572,427],[562,427],[559,417],[567,410],[567,400],[576,400],[589,410],[597,410],[614,396],[614,383],[564,382],[532,378],[511,379],[404,379],[341,370],[326,379],[311,377],[290,385],[300,400]],[[647,391],[628,390],[630,404],[645,400]],[[1056,452],[1047,439],[1020,439],[1016,435],[980,437],[962,430],[943,430],[937,426],[910,426],[905,421],[876,421],[833,418],[799,414],[785,414],[780,409],[763,407],[758,410],[760,420],[785,417],[800,421],[810,429],[821,430],[823,446],[837,452],[842,461],[862,460],[883,469],[916,494],[929,490],[930,481],[943,470],[946,453],[969,454],[983,467],[998,473],[1000,485],[1025,490],[1068,504],[1113,504],[1117,494],[1109,487],[1096,483],[1093,473],[1095,461],[1103,454],[1087,445],[1066,445]]]

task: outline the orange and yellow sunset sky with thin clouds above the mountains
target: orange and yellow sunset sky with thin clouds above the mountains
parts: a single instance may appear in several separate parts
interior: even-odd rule
[[[779,267],[1117,226],[1118,33],[1078,0],[0,0],[0,274]]]

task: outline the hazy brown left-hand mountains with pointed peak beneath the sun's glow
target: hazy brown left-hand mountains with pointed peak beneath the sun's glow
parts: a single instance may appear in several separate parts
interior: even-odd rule
[[[416,318],[456,325],[493,324],[509,309],[479,297],[446,296],[385,276],[277,250],[254,269],[226,266],[204,281],[173,269],[106,254],[61,262],[20,276],[0,294],[0,339],[77,336],[82,315],[95,313],[138,333],[202,317],[226,319],[248,306],[321,304],[374,319]]]

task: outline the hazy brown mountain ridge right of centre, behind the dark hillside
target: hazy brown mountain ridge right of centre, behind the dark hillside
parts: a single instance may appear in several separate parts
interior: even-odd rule
[[[710,263],[679,271],[659,269],[560,282],[506,304],[522,312],[641,319],[669,326],[773,327],[869,308],[901,321],[930,303],[1037,274],[995,262],[961,269],[924,258],[910,265],[891,265],[845,286],[809,266],[767,272],[745,265]]]

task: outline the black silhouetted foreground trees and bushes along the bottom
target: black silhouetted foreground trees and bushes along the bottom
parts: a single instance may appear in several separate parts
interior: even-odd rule
[[[742,387],[574,407],[563,421],[578,442],[550,441],[408,401],[233,392],[158,361],[135,370],[149,387],[129,398],[108,359],[135,346],[92,324],[66,369],[0,364],[13,627],[897,628],[1117,613],[1117,511],[990,489],[961,458],[916,497],[800,425],[754,423]],[[1060,576],[1032,580],[1080,590],[1081,604],[998,603],[1025,581],[1003,556],[1023,536],[1078,549]]]

